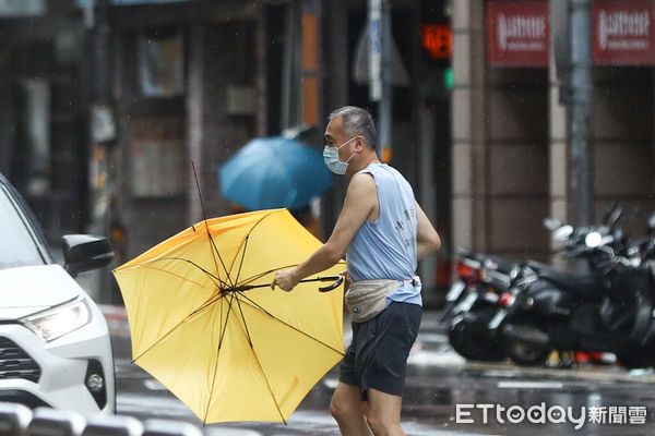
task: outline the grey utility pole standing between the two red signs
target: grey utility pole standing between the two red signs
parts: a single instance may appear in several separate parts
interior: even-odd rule
[[[569,0],[571,82],[568,136],[571,149],[571,218],[574,227],[592,221],[592,0]]]

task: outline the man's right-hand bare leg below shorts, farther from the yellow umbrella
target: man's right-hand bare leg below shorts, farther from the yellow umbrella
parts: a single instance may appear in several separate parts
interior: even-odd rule
[[[404,436],[401,427],[403,397],[369,388],[366,421],[376,436]]]

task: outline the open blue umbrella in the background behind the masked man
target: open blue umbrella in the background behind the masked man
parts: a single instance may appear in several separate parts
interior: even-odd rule
[[[250,141],[218,175],[223,196],[249,210],[298,209],[332,185],[323,155],[284,137]]]

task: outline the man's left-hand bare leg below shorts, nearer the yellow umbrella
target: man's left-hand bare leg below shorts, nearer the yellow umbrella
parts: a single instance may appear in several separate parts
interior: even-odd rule
[[[330,413],[338,423],[338,428],[344,436],[370,436],[371,432],[364,419],[366,403],[359,399],[359,388],[340,382],[336,385]]]

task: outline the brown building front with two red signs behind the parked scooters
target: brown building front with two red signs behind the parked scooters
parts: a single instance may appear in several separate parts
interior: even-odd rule
[[[453,244],[548,261],[541,219],[570,222],[574,202],[571,110],[556,74],[559,34],[551,31],[549,2],[452,7]],[[644,216],[655,209],[654,7],[591,2],[591,223],[618,202],[635,215],[621,221],[634,235],[644,234]]]

